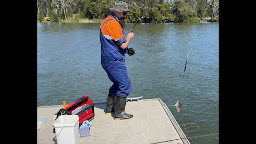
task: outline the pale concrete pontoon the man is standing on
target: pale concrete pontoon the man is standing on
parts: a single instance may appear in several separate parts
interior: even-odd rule
[[[37,131],[37,143],[57,143],[53,133],[53,115],[62,105],[37,107],[37,117],[49,117]],[[132,119],[114,119],[114,114],[105,114],[106,103],[94,103],[94,119],[90,122],[91,137],[78,137],[80,143],[184,143],[190,144],[186,135],[161,99],[142,99],[126,102],[125,112]],[[175,140],[178,139],[178,140]]]

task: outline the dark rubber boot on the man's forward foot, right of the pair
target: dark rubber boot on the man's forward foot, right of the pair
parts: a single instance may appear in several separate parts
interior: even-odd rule
[[[130,119],[133,115],[126,114],[124,109],[126,105],[126,97],[116,97],[115,99],[115,120]]]

